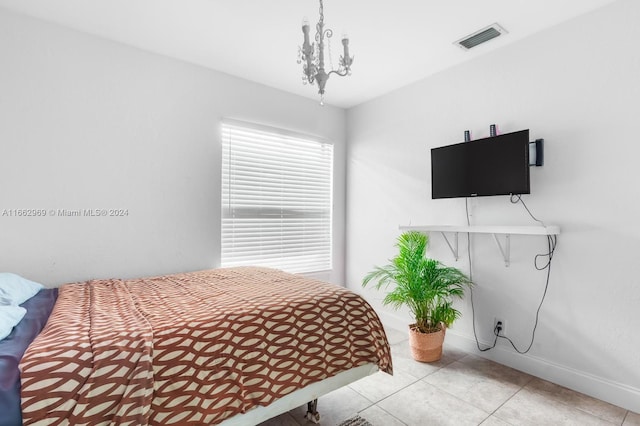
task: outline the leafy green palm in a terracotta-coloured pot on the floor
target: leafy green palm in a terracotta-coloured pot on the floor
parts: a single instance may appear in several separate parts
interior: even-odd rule
[[[472,285],[460,270],[425,256],[426,234],[408,231],[398,237],[398,255],[383,267],[375,267],[362,281],[365,287],[393,288],[382,303],[398,309],[407,306],[415,323],[409,326],[409,344],[413,358],[422,362],[438,361],[446,327],[460,317],[453,307],[454,298],[462,298]]]

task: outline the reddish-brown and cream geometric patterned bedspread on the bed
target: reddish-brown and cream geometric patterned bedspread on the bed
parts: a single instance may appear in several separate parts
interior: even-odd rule
[[[21,363],[24,424],[216,424],[373,362],[360,296],[267,268],[67,284]]]

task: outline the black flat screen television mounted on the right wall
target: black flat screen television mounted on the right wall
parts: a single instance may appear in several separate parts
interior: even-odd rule
[[[433,199],[529,193],[529,129],[431,150]]]

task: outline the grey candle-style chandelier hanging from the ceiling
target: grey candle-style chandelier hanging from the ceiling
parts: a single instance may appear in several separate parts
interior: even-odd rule
[[[349,56],[349,39],[346,35],[342,36],[344,54],[340,56],[339,68],[334,70],[333,61],[331,60],[331,36],[333,36],[333,30],[324,28],[324,5],[322,0],[320,0],[320,20],[316,24],[315,43],[309,43],[309,21],[307,18],[302,22],[302,33],[304,34],[304,42],[302,47],[298,47],[298,63],[302,63],[302,82],[304,84],[318,83],[320,105],[324,105],[324,87],[329,76],[331,74],[337,74],[341,77],[351,75],[353,56]],[[325,38],[329,44],[329,62],[332,68],[329,72],[324,69]]]

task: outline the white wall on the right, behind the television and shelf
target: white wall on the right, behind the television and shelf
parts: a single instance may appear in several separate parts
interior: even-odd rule
[[[545,165],[531,170],[535,215],[559,225],[535,343],[518,355],[501,341],[500,362],[640,412],[640,3],[599,11],[348,111],[347,282],[360,290],[373,265],[395,253],[402,224],[465,224],[463,199],[431,200],[429,149],[531,129]],[[424,52],[428,55],[428,52]],[[535,224],[509,197],[471,201],[474,224]],[[543,237],[512,237],[505,268],[489,236],[473,237],[476,324],[493,319],[519,348],[531,339],[545,273],[533,267]],[[430,255],[468,271],[466,236],[455,263],[442,237]],[[380,307],[382,293],[364,294]],[[450,342],[475,348],[469,297]],[[383,315],[408,323],[407,312]]]

